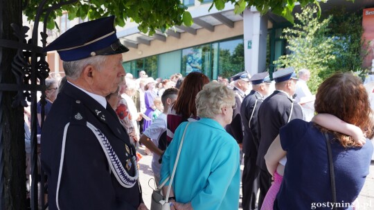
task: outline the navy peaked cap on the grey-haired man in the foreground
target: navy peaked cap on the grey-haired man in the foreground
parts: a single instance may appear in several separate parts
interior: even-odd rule
[[[117,38],[114,16],[75,25],[44,48],[57,50],[63,61],[76,61],[96,55],[116,55],[129,49]]]

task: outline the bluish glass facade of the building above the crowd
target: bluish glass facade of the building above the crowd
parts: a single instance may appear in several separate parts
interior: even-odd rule
[[[175,73],[186,76],[193,71],[202,72],[210,79],[217,79],[218,75],[228,78],[244,70],[244,41],[242,37],[215,41],[127,61],[123,67],[134,77],[145,70],[150,77],[162,79]]]

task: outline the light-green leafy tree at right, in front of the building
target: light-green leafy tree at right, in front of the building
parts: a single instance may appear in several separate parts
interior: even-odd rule
[[[295,15],[294,26],[283,30],[290,53],[274,61],[278,67],[293,66],[296,71],[308,68],[312,93],[336,72],[353,71],[364,77],[367,69],[362,68],[362,61],[368,52],[362,49],[362,15],[339,8],[319,19],[316,12],[315,7],[305,7]]]

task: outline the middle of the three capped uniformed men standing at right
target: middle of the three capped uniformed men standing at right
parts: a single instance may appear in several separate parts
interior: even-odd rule
[[[249,79],[252,90],[244,97],[240,113],[244,126],[243,153],[244,170],[242,175],[242,207],[256,209],[258,192],[258,174],[260,169],[256,165],[258,144],[258,109],[265,95],[269,95],[269,73],[258,73]]]

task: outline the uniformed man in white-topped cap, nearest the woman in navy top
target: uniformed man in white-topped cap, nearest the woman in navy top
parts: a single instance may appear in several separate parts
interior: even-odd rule
[[[273,73],[276,90],[262,102],[258,110],[258,137],[260,144],[256,164],[260,167],[260,196],[258,207],[262,206],[265,195],[271,185],[271,175],[267,171],[264,156],[279,128],[294,119],[303,119],[303,111],[294,102],[292,95],[296,89],[294,68],[279,69]]]

